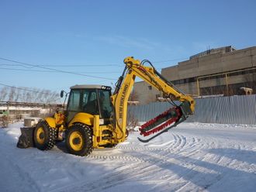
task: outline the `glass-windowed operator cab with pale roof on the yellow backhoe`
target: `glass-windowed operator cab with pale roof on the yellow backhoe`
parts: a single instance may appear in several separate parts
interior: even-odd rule
[[[75,85],[67,102],[67,122],[78,112],[99,115],[104,122],[112,116],[111,87],[102,85]]]

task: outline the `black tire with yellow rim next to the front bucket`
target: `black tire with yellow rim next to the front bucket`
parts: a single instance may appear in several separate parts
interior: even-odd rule
[[[37,149],[50,150],[55,145],[56,130],[50,128],[47,122],[39,122],[36,125],[33,139]]]

